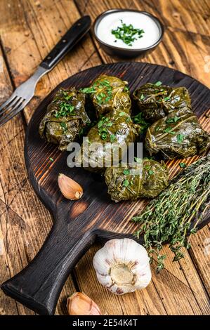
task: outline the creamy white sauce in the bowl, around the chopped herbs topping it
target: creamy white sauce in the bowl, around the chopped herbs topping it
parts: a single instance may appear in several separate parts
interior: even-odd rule
[[[135,36],[137,40],[132,42],[132,46],[125,44],[121,39],[116,39],[114,34],[112,34],[112,29],[122,26],[121,20],[126,25],[132,24],[135,29],[143,29],[145,32],[141,38]],[[150,47],[158,41],[160,34],[159,25],[157,25],[155,20],[152,20],[148,15],[134,11],[119,11],[105,15],[99,22],[96,30],[98,39],[105,42],[105,44],[129,49]],[[115,40],[117,41],[115,42]]]

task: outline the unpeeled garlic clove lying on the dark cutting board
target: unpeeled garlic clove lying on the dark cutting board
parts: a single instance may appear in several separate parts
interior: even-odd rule
[[[58,186],[63,196],[67,199],[76,200],[83,195],[83,189],[79,183],[72,180],[65,174],[60,173],[58,176]]]

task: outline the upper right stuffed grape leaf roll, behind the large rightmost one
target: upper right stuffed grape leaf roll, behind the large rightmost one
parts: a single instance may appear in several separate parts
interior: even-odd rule
[[[164,118],[173,110],[191,109],[190,95],[185,87],[145,84],[134,91],[133,99],[145,119],[151,123]]]

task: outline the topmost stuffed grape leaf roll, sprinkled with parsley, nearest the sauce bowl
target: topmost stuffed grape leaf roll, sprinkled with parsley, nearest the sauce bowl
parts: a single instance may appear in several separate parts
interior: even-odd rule
[[[84,93],[90,95],[97,117],[112,111],[116,107],[131,109],[131,99],[127,81],[113,76],[101,75],[88,88],[83,88]],[[119,94],[121,97],[119,97]]]

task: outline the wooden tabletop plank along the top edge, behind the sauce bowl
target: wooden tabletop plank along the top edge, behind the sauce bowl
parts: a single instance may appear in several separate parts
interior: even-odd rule
[[[210,35],[208,29],[210,8],[209,2],[206,0],[98,0],[97,8],[94,0],[76,0],[75,2],[81,13],[92,13],[95,18],[98,13],[112,8],[138,9],[157,16],[166,27],[174,27],[184,32]]]

